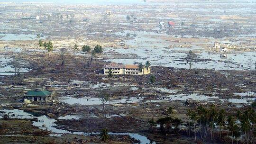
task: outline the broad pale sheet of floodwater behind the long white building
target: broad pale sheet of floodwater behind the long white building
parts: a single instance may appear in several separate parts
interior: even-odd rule
[[[166,34],[157,34],[152,32],[132,32],[123,31],[117,33],[118,36],[124,36],[127,33],[135,33],[137,36],[124,42],[129,48],[107,48],[106,53],[109,57],[111,54],[125,54],[123,58],[107,59],[107,62],[115,63],[145,63],[150,61],[152,65],[162,65],[174,68],[189,69],[189,64],[185,57],[190,50],[198,54],[199,62],[195,62],[192,68],[195,69],[216,69],[216,70],[251,70],[255,69],[252,65],[256,63],[256,51],[253,52],[237,52],[230,51],[225,59],[221,57],[221,53],[207,52],[208,50],[197,46],[191,45],[190,47],[173,47],[172,42],[164,41],[158,36],[168,36]],[[211,47],[214,40],[211,40]],[[193,43],[192,43],[193,44]],[[135,47],[135,48],[134,48]],[[132,57],[132,58],[131,58]]]

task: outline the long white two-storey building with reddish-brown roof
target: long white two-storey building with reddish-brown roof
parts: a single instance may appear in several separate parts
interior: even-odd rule
[[[117,64],[110,63],[104,65],[104,74],[108,74],[109,72],[113,74],[131,74],[131,75],[143,75],[150,73],[150,67],[143,67],[141,70],[138,65],[133,64]]]

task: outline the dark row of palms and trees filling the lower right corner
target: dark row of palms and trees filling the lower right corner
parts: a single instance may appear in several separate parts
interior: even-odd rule
[[[256,102],[245,110],[238,110],[236,114],[229,114],[225,109],[199,106],[195,109],[187,110],[189,121],[185,123],[187,135],[194,137],[195,141],[202,143],[209,141],[228,141],[229,143],[238,144],[255,144],[256,143]],[[168,109],[172,114],[172,107]],[[156,121],[150,119],[148,124],[151,133],[176,134],[182,131],[179,126],[182,124],[181,119],[170,115],[160,117]],[[159,126],[159,128],[157,127]],[[172,126],[174,128],[172,128]]]

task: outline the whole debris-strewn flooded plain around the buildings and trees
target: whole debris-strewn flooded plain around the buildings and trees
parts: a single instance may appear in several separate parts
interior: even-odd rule
[[[254,1],[14,1],[0,4],[0,114],[11,117],[4,120],[1,115],[0,123],[12,123],[13,131],[0,135],[3,143],[29,143],[38,135],[33,129],[38,129],[63,142],[69,137],[80,144],[79,136],[87,135],[89,139],[81,138],[85,143],[98,144],[99,132],[107,128],[117,143],[196,144],[186,134],[188,109],[215,105],[232,115],[256,100]],[[39,39],[51,41],[54,50],[40,47]],[[220,52],[215,42],[231,46]],[[83,45],[102,45],[103,53],[91,57],[82,52]],[[190,51],[197,55],[191,70]],[[13,60],[22,65],[17,76]],[[110,62],[146,61],[151,63],[149,75],[108,77],[102,72]],[[38,88],[53,92],[53,100],[23,103],[27,91]],[[104,108],[102,90],[110,94]],[[162,134],[160,125],[151,132],[149,120],[167,116],[182,120],[178,136]],[[30,133],[12,129],[23,129],[24,123],[33,128]]]

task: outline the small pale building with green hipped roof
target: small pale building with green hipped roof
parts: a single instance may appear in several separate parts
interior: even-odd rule
[[[37,102],[49,102],[52,100],[52,92],[42,89],[35,89],[27,91],[24,96],[24,103]]]

